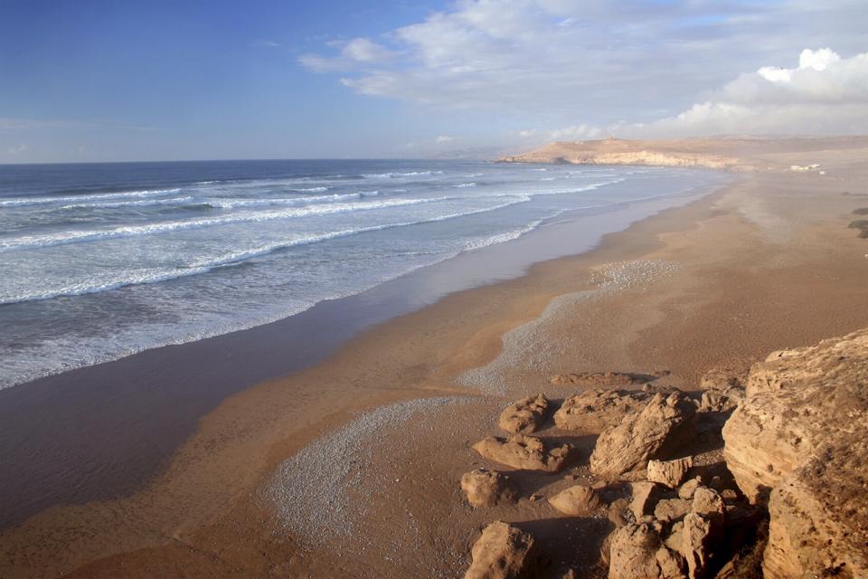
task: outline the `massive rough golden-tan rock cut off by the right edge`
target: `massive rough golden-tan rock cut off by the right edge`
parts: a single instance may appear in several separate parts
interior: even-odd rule
[[[748,394],[724,458],[769,500],[765,576],[868,576],[868,329],[769,356]]]

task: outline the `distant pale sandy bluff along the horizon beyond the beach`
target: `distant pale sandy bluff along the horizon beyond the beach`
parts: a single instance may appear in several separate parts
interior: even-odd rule
[[[605,138],[556,141],[499,163],[683,166],[726,171],[795,170],[788,154],[808,150],[868,147],[868,138]]]

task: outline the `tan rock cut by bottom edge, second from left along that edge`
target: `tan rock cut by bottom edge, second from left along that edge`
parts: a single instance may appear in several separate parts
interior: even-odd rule
[[[609,579],[679,579],[684,564],[663,544],[658,522],[636,523],[612,534]]]

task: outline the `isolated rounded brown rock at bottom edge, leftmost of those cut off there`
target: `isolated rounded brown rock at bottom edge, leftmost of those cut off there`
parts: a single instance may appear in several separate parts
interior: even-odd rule
[[[535,565],[533,536],[496,521],[483,529],[473,546],[473,563],[464,579],[515,579],[527,577]]]

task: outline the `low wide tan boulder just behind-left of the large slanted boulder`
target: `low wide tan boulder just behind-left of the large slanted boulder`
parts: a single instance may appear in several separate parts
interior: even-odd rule
[[[641,392],[588,390],[564,400],[554,413],[554,423],[568,431],[602,432],[618,425],[627,414],[641,410],[647,399]]]

